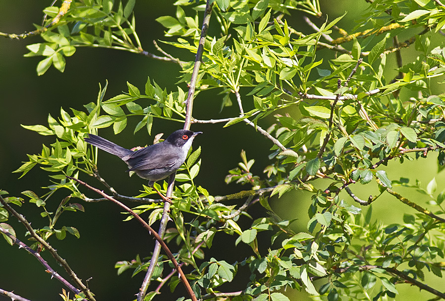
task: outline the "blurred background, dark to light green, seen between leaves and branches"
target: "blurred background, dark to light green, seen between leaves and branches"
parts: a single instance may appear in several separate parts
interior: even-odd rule
[[[32,24],[41,23],[42,10],[49,3],[50,1],[43,0],[0,0],[0,31],[20,34],[34,30]],[[322,3],[325,6],[322,11],[328,14],[330,20],[342,15],[345,10],[352,11],[339,24],[347,31],[356,25],[354,23],[355,13],[367,7],[365,1],[359,0],[325,0]],[[176,7],[170,1],[137,1],[134,11],[136,31],[144,50],[160,55],[152,41],[167,38],[163,36],[164,28],[155,19],[163,15],[174,15]],[[202,20],[202,16],[200,16],[200,20]],[[309,32],[301,19],[296,18],[294,22],[293,25],[301,24],[301,31]],[[211,21],[211,30],[212,25],[216,25],[215,20]],[[169,39],[175,40],[175,38]],[[36,132],[22,128],[20,124],[46,125],[48,114],[57,117],[62,107],[67,112],[70,112],[70,108],[83,110],[83,105],[95,102],[99,84],[103,87],[106,80],[108,80],[108,89],[105,98],[109,99],[126,91],[127,81],[143,89],[147,76],[154,79],[161,87],[166,87],[168,91],[176,90],[175,83],[180,75],[179,67],[173,63],[161,62],[118,50],[78,48],[72,57],[67,58],[67,66],[63,74],[51,67],[45,75],[38,76],[36,66],[41,58],[24,58],[23,55],[28,52],[25,48],[27,44],[41,41],[40,37],[25,40],[0,39],[0,188],[14,196],[20,196],[23,190],[33,190],[39,195],[46,192],[45,188],[42,188],[50,185],[50,178],[46,172],[35,168],[21,179],[18,179],[19,174],[11,174],[11,172],[21,165],[21,161],[27,160],[27,153],[38,153],[42,149],[42,144],[49,145],[54,141],[54,137],[40,136]],[[434,41],[434,43],[436,42],[439,43],[439,41]],[[162,43],[160,45],[183,60],[193,59],[193,55],[190,53],[179,51]],[[403,49],[402,51],[413,50]],[[330,53],[320,51],[319,55],[322,57],[327,54]],[[388,61],[392,60],[394,61],[394,58],[389,56]],[[391,66],[388,69],[391,69]],[[394,70],[388,72],[396,73]],[[183,83],[181,88],[184,91],[187,90]],[[236,106],[232,106],[219,113],[220,107],[221,96],[217,95],[216,91],[215,94],[202,93],[195,100],[193,116],[198,119],[223,118],[234,116],[238,111]],[[245,107],[248,109],[249,104],[246,104]],[[289,113],[295,115],[292,109]],[[267,121],[273,122],[273,118]],[[267,121],[263,121],[261,125],[267,128]],[[133,135],[133,128],[137,122],[138,120],[132,120],[127,129],[117,136],[114,136],[111,129],[103,129],[99,133],[107,139],[130,148],[136,145],[151,144],[157,133],[162,132],[167,136],[174,130],[182,128],[181,123],[157,119],[152,129],[153,137],[149,137],[144,130]],[[267,155],[272,146],[267,139],[256,134],[254,129],[248,125],[238,123],[224,129],[222,125],[195,124],[191,128],[204,132],[194,142],[195,148],[198,146],[202,148],[201,172],[195,179],[195,183],[207,188],[212,195],[224,195],[242,189],[241,186],[224,183],[227,171],[235,168],[240,161],[239,154],[242,149],[247,152],[248,159],[256,160],[253,167],[254,173],[263,177],[263,168],[268,164]],[[128,174],[125,173],[127,169],[125,164],[118,158],[105,152],[101,152],[99,157],[101,175],[120,193],[137,195],[141,185],[146,184],[137,177],[128,177]],[[392,162],[388,174],[392,180],[399,179],[401,176],[415,175],[413,178],[418,178],[424,183],[424,186],[433,177],[436,177],[438,191],[441,191],[445,184],[443,173],[437,175],[435,154],[431,154],[428,159],[421,162],[413,161],[402,165]],[[97,184],[93,179],[85,178],[85,175],[82,177],[92,185]],[[327,184],[321,180],[318,180],[316,185],[327,187]],[[244,189],[249,188],[245,187]],[[373,191],[362,189],[358,190],[357,194],[366,198],[366,195],[376,191],[377,186],[375,185]],[[405,190],[399,188],[399,191],[403,193]],[[421,204],[428,201],[421,194],[412,194],[411,190],[406,190],[405,193],[410,193],[411,200]],[[87,195],[96,197],[89,191]],[[53,196],[51,198],[53,203],[47,205],[48,209],[55,209],[64,196],[61,192]],[[295,229],[307,231],[309,200],[306,196],[304,192],[291,192],[281,199],[273,198],[271,204],[283,218],[299,217]],[[353,200],[344,197],[353,203]],[[242,202],[243,200],[237,200],[233,203]],[[68,261],[77,275],[84,280],[84,283],[85,280],[91,278],[88,284],[96,294],[97,300],[133,300],[143,279],[143,273],[137,274],[134,278],[131,277],[130,271],[117,276],[114,264],[121,260],[132,260],[137,254],[141,258],[149,256],[154,240],[134,221],[122,222],[125,216],[120,213],[119,208],[111,203],[83,203],[83,205],[86,208],[85,213],[67,212],[60,221],[63,225],[76,227],[80,231],[80,239],[68,235],[62,241],[53,237],[50,243]],[[257,212],[263,210],[259,204],[256,206],[250,212],[254,218],[255,210]],[[356,206],[358,205],[356,204]],[[388,210],[388,208],[392,210]],[[367,209],[364,208],[364,210]],[[401,221],[405,210],[407,207],[400,205],[395,198],[386,196],[375,204],[374,215],[378,215],[389,224],[391,219]],[[29,221],[32,221],[35,227],[44,226],[47,222],[40,216],[41,211],[34,204],[24,203],[20,211]],[[8,223],[15,228],[18,237],[26,242],[24,228],[13,218]],[[251,221],[246,220],[244,224],[243,222],[240,224],[249,227],[250,223]],[[259,237],[265,241],[268,240],[268,237],[261,237],[261,235]],[[213,256],[229,263],[244,260],[246,254],[250,254],[250,247],[239,244],[235,248],[235,239],[235,236],[228,235],[219,239],[216,237],[212,250],[206,250],[206,256],[209,258]],[[175,246],[172,246],[172,251],[175,252]],[[64,275],[64,271],[57,268],[58,266],[51,261],[49,256],[44,254],[44,258]],[[249,276],[247,270],[240,270],[236,277],[247,279]],[[237,285],[241,282],[244,280],[235,280],[222,289],[225,288],[227,291],[242,289],[242,285]],[[42,265],[26,251],[18,250],[16,246],[11,247],[2,239],[0,239],[0,288],[13,290],[33,301],[61,300],[58,294],[61,293],[62,285],[55,279],[51,280]],[[178,293],[177,297],[185,295],[181,285],[178,285],[176,292]],[[401,292],[400,298],[403,296],[412,297],[415,293],[417,290],[406,285],[406,291]],[[300,298],[305,298],[303,295],[303,293],[298,294]],[[3,300],[9,299],[0,296],[0,301]]]

